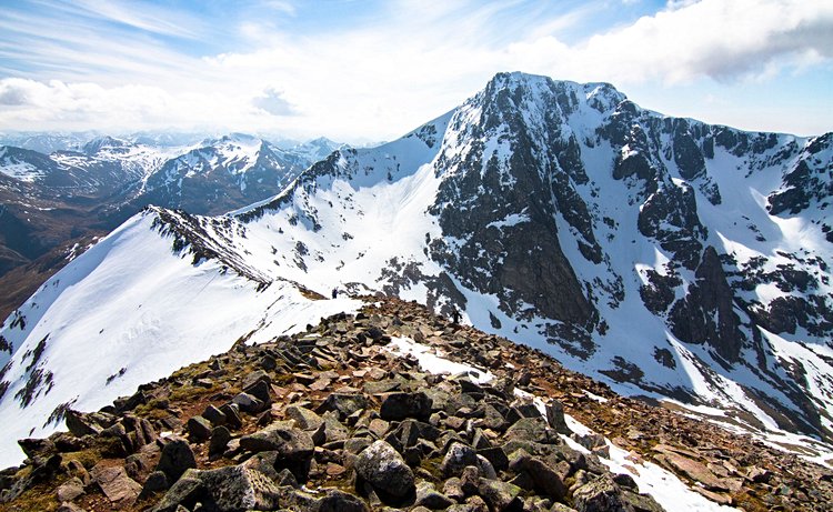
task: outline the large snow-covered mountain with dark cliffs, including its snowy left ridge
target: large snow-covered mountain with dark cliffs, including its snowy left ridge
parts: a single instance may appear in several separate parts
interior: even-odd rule
[[[0,462],[68,404],[269,339],[288,314],[300,324],[283,307],[304,304],[295,284],[455,307],[620,392],[810,455],[821,445],[799,434],[833,435],[831,142],[501,73],[394,142],[338,150],[272,200],[215,218],[147,209],[4,322],[0,418],[18,426]]]

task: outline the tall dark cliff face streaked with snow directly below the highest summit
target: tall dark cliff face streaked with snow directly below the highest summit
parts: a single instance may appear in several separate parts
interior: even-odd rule
[[[598,314],[561,250],[555,220],[562,211],[588,233],[588,252],[598,252],[572,189],[573,181],[586,181],[575,147],[551,143],[560,141],[570,96],[553,83],[538,98],[514,86],[509,76],[496,77],[473,100],[480,118],[458,140],[466,151],[439,158],[444,179],[430,211],[445,238],[431,242],[432,257],[466,288],[498,295],[509,314],[522,317],[531,305],[538,315],[592,331]],[[542,100],[546,117],[530,126],[524,108]],[[489,152],[493,144],[503,149]]]

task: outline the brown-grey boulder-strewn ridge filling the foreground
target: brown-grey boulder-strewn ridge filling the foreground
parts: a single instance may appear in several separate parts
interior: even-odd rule
[[[481,371],[432,374],[391,349],[399,338]],[[719,503],[833,510],[825,468],[415,303],[373,299],[244,342],[99,412],[62,411],[69,432],[20,441],[29,459],[0,472],[0,511],[663,510],[602,463],[605,436],[629,470],[656,463]]]

